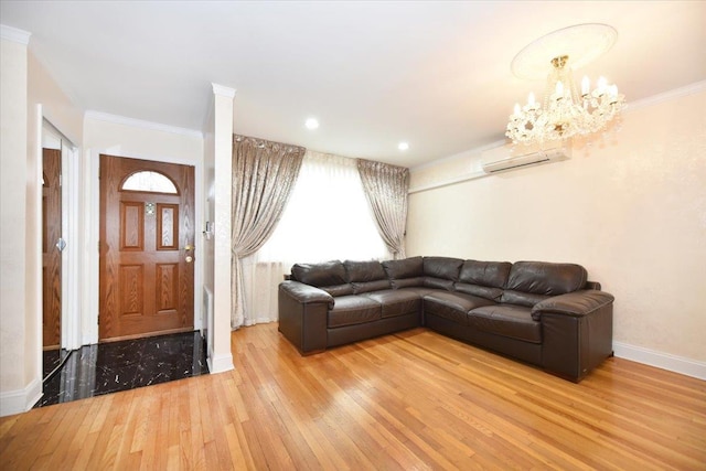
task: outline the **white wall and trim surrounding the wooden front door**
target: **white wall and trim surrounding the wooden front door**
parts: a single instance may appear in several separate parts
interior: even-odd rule
[[[203,137],[200,132],[162,125],[132,120],[128,118],[93,113],[86,114],[84,120],[84,149],[86,164],[86,182],[84,185],[85,205],[89,208],[87,222],[86,249],[87,264],[84,267],[86,286],[83,300],[85,315],[83,317],[83,343],[98,341],[98,205],[99,181],[98,164],[101,153],[110,156],[156,160],[195,167],[195,221],[203,221],[204,190],[203,190]],[[201,328],[202,323],[202,280],[204,248],[201,226],[196,226],[195,264],[194,264],[194,323]]]

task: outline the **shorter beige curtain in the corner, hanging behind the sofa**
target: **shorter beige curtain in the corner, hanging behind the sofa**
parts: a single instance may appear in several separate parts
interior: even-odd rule
[[[381,237],[395,258],[405,258],[409,169],[359,159],[357,171]]]

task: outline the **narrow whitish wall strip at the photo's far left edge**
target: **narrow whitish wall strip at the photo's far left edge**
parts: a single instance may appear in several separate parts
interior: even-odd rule
[[[39,254],[29,254],[28,193],[28,40],[12,38],[14,31],[2,26],[0,40],[0,415],[15,414],[39,399],[38,382],[40,336],[29,264]],[[35,164],[34,164],[35,167]],[[34,224],[29,222],[30,228]],[[36,274],[33,274],[34,276]],[[28,306],[28,301],[30,304]]]

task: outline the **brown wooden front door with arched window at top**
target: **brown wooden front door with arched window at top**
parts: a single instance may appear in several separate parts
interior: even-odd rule
[[[194,168],[100,156],[99,340],[193,330]]]

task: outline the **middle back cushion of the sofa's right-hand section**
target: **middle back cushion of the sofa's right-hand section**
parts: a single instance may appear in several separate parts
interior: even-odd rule
[[[454,285],[457,291],[498,301],[503,295],[512,264],[509,261],[466,260]]]

